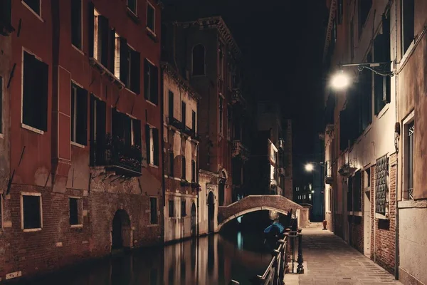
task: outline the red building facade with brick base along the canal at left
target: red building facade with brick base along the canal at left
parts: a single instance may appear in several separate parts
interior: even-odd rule
[[[161,242],[161,7],[9,0],[0,11],[2,31],[16,30],[0,41],[0,277]]]

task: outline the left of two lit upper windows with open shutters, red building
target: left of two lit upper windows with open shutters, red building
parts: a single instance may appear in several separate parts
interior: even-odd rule
[[[115,32],[110,30],[108,19],[105,16],[99,14],[94,9],[93,4],[90,4],[89,14],[91,17],[93,15],[93,21],[92,19],[89,21],[89,56],[95,58],[105,68],[108,68],[108,49],[109,46],[110,48],[114,46],[115,37],[113,35],[115,35]],[[113,61],[110,63],[113,65]],[[111,67],[112,66],[110,66],[110,70],[114,71],[114,69]]]

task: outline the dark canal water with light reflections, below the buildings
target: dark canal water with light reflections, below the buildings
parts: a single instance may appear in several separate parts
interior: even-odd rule
[[[268,266],[271,250],[262,230],[231,227],[221,234],[121,254],[21,284],[228,285],[231,279],[250,284],[251,276]]]

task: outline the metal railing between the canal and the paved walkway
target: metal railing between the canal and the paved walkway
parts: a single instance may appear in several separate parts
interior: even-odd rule
[[[295,260],[295,244],[298,245],[298,257]],[[278,240],[278,248],[271,252],[271,260],[265,269],[263,275],[257,275],[251,279],[253,285],[284,285],[285,274],[294,271],[294,263],[297,261],[298,274],[304,273],[302,265],[302,234],[301,229],[297,231],[285,230],[283,239]],[[292,262],[292,269],[289,263]],[[230,284],[239,284],[237,281],[231,280]]]

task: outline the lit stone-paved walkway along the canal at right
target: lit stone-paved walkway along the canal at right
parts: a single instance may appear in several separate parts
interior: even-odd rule
[[[286,274],[286,285],[401,284],[341,238],[323,231],[320,224],[302,229],[302,234],[305,273]]]

